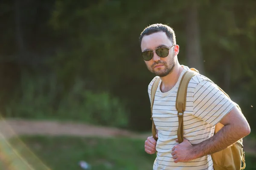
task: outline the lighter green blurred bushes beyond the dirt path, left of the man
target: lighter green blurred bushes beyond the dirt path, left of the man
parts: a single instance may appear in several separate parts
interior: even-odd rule
[[[76,79],[64,93],[55,76],[24,74],[16,98],[6,107],[6,116],[54,118],[84,121],[105,126],[127,127],[129,111],[109,92],[87,89],[86,81]],[[65,95],[63,95],[65,94]]]

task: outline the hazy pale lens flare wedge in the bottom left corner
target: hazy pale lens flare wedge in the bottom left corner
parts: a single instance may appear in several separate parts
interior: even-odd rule
[[[2,117],[0,118],[0,169],[51,170],[21,141]]]

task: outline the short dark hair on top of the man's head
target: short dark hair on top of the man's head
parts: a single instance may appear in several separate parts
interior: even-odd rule
[[[172,43],[176,44],[176,37],[175,37],[175,32],[173,31],[173,29],[167,25],[161,24],[161,23],[155,23],[152,24],[150,26],[147,26],[143,32],[140,34],[140,46],[141,46],[141,41],[142,38],[145,35],[151,35],[155,32],[165,32],[167,37],[172,41]]]

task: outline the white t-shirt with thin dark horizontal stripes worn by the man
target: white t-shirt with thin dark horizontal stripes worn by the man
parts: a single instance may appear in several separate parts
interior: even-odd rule
[[[183,66],[183,65],[182,65]],[[183,66],[175,86],[168,92],[160,91],[161,80],[154,98],[153,120],[158,130],[156,145],[157,158],[153,170],[213,170],[210,155],[197,158],[189,162],[175,163],[172,158],[172,147],[178,144],[177,139],[178,117],[175,107],[177,90],[182,75],[189,69]],[[148,94],[151,98],[153,82],[148,85]],[[183,117],[183,136],[191,144],[198,144],[210,138],[215,130],[215,124],[221,121],[227,113],[235,107],[218,87],[203,75],[195,75],[188,84],[186,95],[186,109]]]

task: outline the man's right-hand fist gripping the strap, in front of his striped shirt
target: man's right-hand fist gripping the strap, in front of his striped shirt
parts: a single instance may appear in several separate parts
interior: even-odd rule
[[[176,141],[178,142],[178,139],[176,139]],[[195,159],[192,148],[192,144],[185,138],[183,142],[176,144],[172,148],[172,158],[174,159],[174,162],[187,162]]]

